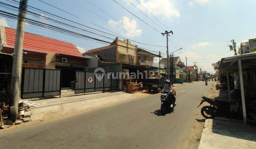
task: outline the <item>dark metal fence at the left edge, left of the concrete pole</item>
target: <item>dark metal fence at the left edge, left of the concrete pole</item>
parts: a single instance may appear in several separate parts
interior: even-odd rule
[[[11,73],[0,73],[0,102],[9,100]]]

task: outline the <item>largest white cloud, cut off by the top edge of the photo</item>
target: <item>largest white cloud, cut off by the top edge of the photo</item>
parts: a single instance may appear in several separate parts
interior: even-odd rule
[[[178,9],[174,6],[174,3],[171,0],[149,0],[147,2],[140,0],[140,4],[153,15],[162,15],[166,18],[171,18],[172,16],[180,17]],[[142,11],[146,11],[140,4],[137,7]]]

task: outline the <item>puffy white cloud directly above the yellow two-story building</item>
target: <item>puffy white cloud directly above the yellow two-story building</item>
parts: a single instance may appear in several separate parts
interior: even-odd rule
[[[134,19],[130,20],[130,18],[128,18],[126,16],[123,16],[122,19],[123,20],[119,20],[120,22],[119,21],[108,20],[109,21],[108,23],[113,28],[117,28],[118,30],[121,30],[121,29],[118,28],[117,26],[119,26],[119,27],[123,28],[124,30],[126,30],[127,31],[126,33],[122,33],[126,37],[133,37],[134,34],[141,34],[142,30],[137,28],[138,24],[137,24],[136,20],[134,20]]]

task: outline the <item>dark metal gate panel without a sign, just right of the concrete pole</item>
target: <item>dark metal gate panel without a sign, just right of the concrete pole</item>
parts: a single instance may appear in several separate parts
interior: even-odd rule
[[[60,96],[60,93],[60,70],[23,67],[22,99]]]

